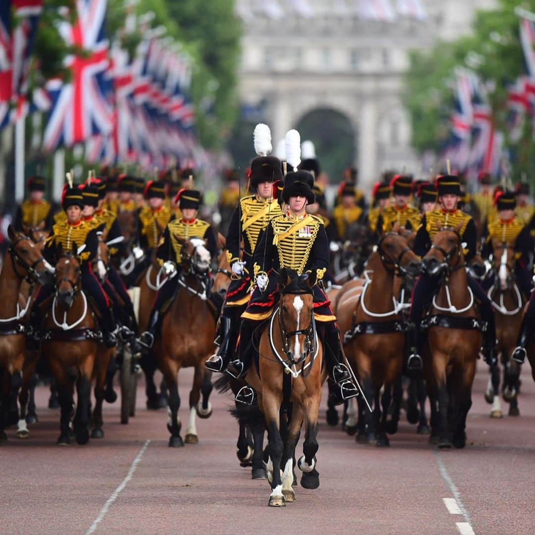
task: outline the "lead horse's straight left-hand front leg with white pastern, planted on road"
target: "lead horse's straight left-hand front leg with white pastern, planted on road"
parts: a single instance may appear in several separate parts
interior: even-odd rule
[[[282,494],[282,479],[280,477],[280,462],[284,447],[279,431],[281,397],[281,392],[275,393],[265,387],[262,391],[262,407],[266,427],[268,427],[268,449],[270,456],[268,471],[270,471],[270,465],[272,468],[271,494],[268,503],[270,507],[285,506],[284,494]]]

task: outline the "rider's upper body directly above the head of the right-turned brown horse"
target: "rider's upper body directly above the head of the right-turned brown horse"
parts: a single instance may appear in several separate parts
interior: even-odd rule
[[[379,235],[391,232],[395,224],[408,230],[416,230],[420,224],[420,211],[409,204],[412,194],[412,176],[396,174],[390,182],[394,203],[385,208],[377,219]]]

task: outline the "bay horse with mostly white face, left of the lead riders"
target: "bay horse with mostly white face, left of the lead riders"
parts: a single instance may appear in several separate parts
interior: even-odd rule
[[[209,418],[212,405],[210,375],[204,363],[213,353],[216,333],[215,307],[208,301],[204,278],[210,269],[210,253],[199,238],[183,240],[181,269],[177,292],[172,304],[162,318],[162,336],[155,340],[153,353],[169,389],[167,429],[171,433],[170,447],[184,446],[180,436],[181,422],[178,416],[180,396],[178,373],[181,368],[193,366],[193,386],[189,393],[189,422],[186,427],[186,444],[196,444],[196,416]],[[202,393],[202,400],[201,400]]]

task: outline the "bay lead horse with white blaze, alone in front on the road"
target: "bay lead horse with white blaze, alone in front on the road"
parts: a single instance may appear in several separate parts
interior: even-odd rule
[[[284,507],[286,502],[295,501],[294,454],[303,422],[304,455],[297,461],[303,472],[301,485],[319,486],[318,417],[327,374],[312,307],[315,284],[314,274],[281,270],[279,304],[262,327],[258,365],[251,365],[245,378],[258,394],[258,407],[268,429],[270,507]]]

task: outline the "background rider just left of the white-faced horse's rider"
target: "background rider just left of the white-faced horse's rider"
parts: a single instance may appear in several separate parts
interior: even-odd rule
[[[164,206],[165,185],[158,180],[149,180],[144,189],[147,205],[139,210],[138,245],[132,249],[136,265],[129,280],[133,285],[152,262],[152,253],[159,246],[164,228],[169,223],[171,211]]]

